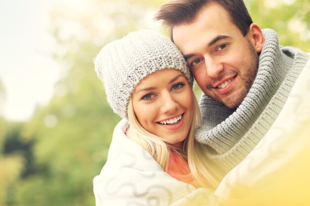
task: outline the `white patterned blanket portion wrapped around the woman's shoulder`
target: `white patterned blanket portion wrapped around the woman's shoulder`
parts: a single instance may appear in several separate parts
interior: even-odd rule
[[[116,125],[107,162],[94,178],[96,206],[168,206],[195,191],[131,141],[124,134],[126,125],[126,120]]]

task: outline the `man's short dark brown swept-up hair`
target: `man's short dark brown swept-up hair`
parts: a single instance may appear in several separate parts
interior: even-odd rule
[[[232,22],[246,36],[253,21],[243,0],[170,0],[159,6],[155,20],[163,20],[163,23],[169,27],[172,39],[175,25],[190,23],[199,11],[211,2],[217,2],[223,6],[228,11]]]

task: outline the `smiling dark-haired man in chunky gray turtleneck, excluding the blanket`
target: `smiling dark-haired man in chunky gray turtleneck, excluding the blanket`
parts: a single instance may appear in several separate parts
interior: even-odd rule
[[[229,171],[276,120],[309,55],[280,48],[274,31],[252,22],[243,0],[172,0],[155,19],[168,25],[205,94],[197,140]]]

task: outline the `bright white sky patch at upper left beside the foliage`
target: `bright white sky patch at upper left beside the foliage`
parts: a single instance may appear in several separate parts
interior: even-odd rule
[[[36,106],[48,103],[60,77],[61,68],[49,54],[51,4],[52,0],[0,0],[0,81],[6,93],[0,111],[8,120],[29,119]]]

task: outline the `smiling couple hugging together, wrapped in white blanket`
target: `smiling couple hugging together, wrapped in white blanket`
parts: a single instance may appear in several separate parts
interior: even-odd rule
[[[107,101],[124,118],[94,179],[96,205],[217,205],[236,194],[266,205],[275,190],[292,200],[281,180],[309,182],[292,169],[309,171],[309,54],[279,46],[242,0],[172,0],[155,18],[173,43],[141,30],[96,58]]]

